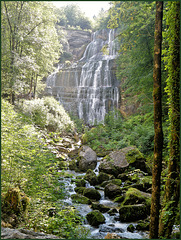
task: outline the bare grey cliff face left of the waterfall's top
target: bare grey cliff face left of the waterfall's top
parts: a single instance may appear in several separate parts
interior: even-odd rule
[[[71,61],[78,61],[91,42],[91,33],[83,30],[64,29],[66,41],[63,43],[64,52],[68,53]]]

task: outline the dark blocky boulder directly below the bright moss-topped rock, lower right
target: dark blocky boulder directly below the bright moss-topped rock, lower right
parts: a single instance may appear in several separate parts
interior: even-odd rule
[[[125,205],[119,209],[119,219],[122,222],[134,222],[149,216],[150,209],[145,204]]]

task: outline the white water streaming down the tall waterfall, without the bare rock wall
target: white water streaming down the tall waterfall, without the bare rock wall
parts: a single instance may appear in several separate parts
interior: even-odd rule
[[[119,91],[115,78],[111,74],[111,64],[116,58],[114,48],[114,30],[107,30],[106,40],[100,33],[93,34],[92,42],[87,46],[80,62],[82,67],[78,86],[78,115],[88,123],[104,122],[105,114],[118,107]],[[102,53],[106,46],[106,54]]]

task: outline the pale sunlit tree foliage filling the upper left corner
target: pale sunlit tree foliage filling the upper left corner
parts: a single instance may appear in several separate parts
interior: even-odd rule
[[[56,16],[45,1],[4,1],[1,10],[2,94],[28,93],[58,61]]]

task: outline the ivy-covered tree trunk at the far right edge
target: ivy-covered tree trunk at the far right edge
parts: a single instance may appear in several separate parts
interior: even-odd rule
[[[165,197],[160,217],[159,235],[170,238],[177,215],[180,189],[180,2],[168,2],[165,51],[168,79],[166,91],[169,104],[169,166]]]

